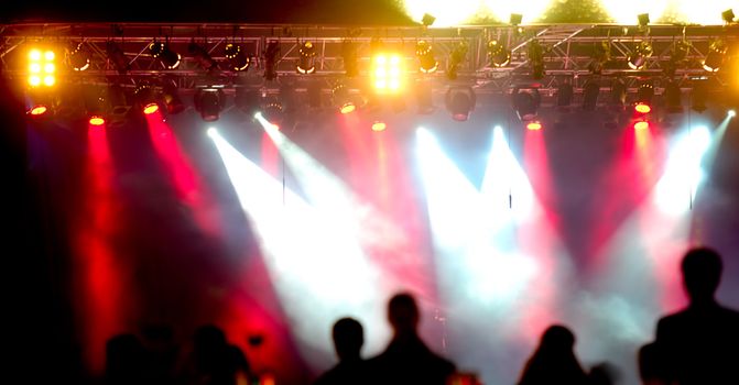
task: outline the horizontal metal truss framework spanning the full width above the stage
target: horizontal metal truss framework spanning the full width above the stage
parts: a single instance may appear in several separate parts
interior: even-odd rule
[[[335,80],[346,78],[351,78],[352,87],[367,84],[372,88],[371,94],[380,94],[381,98],[402,95],[405,85],[415,84],[410,76],[428,79],[433,95],[444,97],[444,82],[448,80],[455,86],[475,85],[478,96],[501,95],[522,81],[531,82],[533,74],[542,76],[535,82],[545,98],[545,106],[556,103],[553,99],[557,95],[557,80],[565,77],[573,79],[575,100],[579,100],[591,74],[601,75],[601,80],[621,78],[627,94],[635,94],[639,82],[644,79],[654,80],[658,94],[662,94],[665,76],[673,79],[707,76],[710,94],[737,85],[736,72],[729,68],[733,63],[730,47],[739,44],[736,22],[713,26],[649,24],[646,35],[634,25],[537,24],[524,28],[525,34],[519,34],[508,25],[388,28],[382,30],[384,46],[376,50],[372,42],[379,41],[378,29],[372,26],[352,28],[347,32],[346,28],[326,25],[239,24],[235,31],[235,25],[194,23],[122,23],[113,29],[109,23],[4,24],[0,35],[0,56],[3,57],[0,67],[2,76],[25,86],[25,91],[53,89],[56,92],[76,82],[107,85],[120,81],[129,88],[131,79],[135,84],[145,80],[161,88],[162,77],[166,74],[176,76],[176,89],[183,95],[193,95],[203,85],[208,85],[222,87],[224,92],[232,97],[237,87],[252,87],[257,82],[274,94],[283,81],[262,80],[274,80],[278,76],[287,84],[298,85],[297,94],[304,94],[305,87],[300,86],[300,81],[305,80],[301,79],[305,75],[296,72],[296,65],[301,61],[301,48],[309,38],[315,58],[319,58],[319,63],[314,62],[316,72],[320,73],[318,80],[322,80],[324,95],[329,95]],[[44,37],[40,37],[40,31],[46,31]],[[204,36],[208,36],[207,44]],[[191,53],[188,46],[193,41],[199,48]],[[425,47],[421,44],[422,54],[433,45],[434,61],[428,63],[438,61],[444,66],[443,72],[436,69],[423,74],[416,70],[421,57],[425,57],[416,55],[421,41],[426,44]],[[32,48],[40,52],[35,64],[29,59]],[[53,63],[44,62],[45,51],[55,53]],[[200,55],[202,51],[210,58]],[[379,58],[380,54],[384,59]],[[384,65],[380,68],[377,64],[382,61]],[[398,69],[391,62],[398,64]],[[200,63],[205,68],[217,66],[217,74],[204,70]],[[433,64],[426,68],[433,68]],[[545,72],[542,64],[546,66]],[[405,65],[412,68],[405,68]],[[87,68],[81,70],[85,66]],[[259,75],[263,72],[264,79],[249,72],[257,66]],[[52,68],[53,73],[44,73]],[[689,81],[681,80],[681,84],[684,92],[692,88]],[[610,81],[604,81],[601,90],[609,85]],[[166,109],[164,105],[161,108]],[[56,111],[56,108],[51,107],[50,111]]]

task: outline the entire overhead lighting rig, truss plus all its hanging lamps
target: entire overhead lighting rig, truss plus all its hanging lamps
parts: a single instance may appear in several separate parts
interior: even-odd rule
[[[74,100],[90,119],[113,120],[132,109],[193,106],[214,121],[231,100],[247,113],[279,117],[291,95],[293,103],[297,96],[341,113],[383,103],[403,111],[405,99],[432,113],[441,96],[438,105],[465,121],[478,95],[507,94],[519,117],[533,121],[546,103],[651,106],[654,95],[678,112],[689,94],[700,112],[710,95],[739,89],[739,25],[728,11],[726,24],[709,26],[651,25],[648,14],[634,25],[521,25],[519,16],[454,29],[430,28],[433,16],[422,26],[354,29],[9,24],[0,64],[22,85],[33,116],[59,114]]]

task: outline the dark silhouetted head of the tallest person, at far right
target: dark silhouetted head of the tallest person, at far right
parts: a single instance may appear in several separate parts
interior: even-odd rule
[[[693,249],[685,254],[682,263],[683,282],[691,302],[714,299],[721,279],[721,257],[713,249]]]

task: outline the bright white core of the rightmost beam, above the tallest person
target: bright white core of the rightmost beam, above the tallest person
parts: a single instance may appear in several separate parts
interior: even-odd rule
[[[665,213],[680,215],[689,209],[705,178],[702,160],[711,144],[706,127],[683,134],[672,146],[664,174],[656,184],[654,199]]]

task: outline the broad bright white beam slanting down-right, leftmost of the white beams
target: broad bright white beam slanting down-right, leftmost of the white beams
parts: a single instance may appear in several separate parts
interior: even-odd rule
[[[260,237],[271,282],[304,356],[326,366],[334,352],[330,327],[351,316],[365,324],[383,324],[387,297],[379,293],[379,274],[357,248],[351,234],[281,182],[241,155],[217,132],[213,141],[239,201]],[[367,351],[377,352],[387,333],[366,330]],[[322,354],[316,354],[322,352]]]

